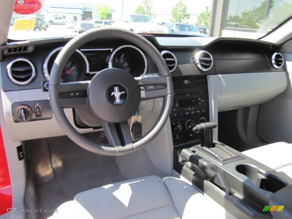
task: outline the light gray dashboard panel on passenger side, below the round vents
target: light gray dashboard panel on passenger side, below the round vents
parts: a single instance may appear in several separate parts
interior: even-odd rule
[[[286,72],[220,74],[218,112],[266,103],[287,88]]]

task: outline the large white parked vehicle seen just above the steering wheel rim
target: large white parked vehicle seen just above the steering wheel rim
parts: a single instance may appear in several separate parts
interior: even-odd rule
[[[140,14],[123,14],[113,23],[113,26],[126,28],[136,33],[165,33],[152,17]]]

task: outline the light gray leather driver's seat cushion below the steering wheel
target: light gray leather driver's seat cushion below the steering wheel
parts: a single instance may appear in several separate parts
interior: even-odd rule
[[[52,218],[234,218],[174,177],[147,176],[81,192]]]

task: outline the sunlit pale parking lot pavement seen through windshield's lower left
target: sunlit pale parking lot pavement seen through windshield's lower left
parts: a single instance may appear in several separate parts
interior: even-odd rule
[[[10,27],[8,39],[24,40],[24,39],[41,39],[58,36],[76,36],[74,28],[66,28],[65,25],[49,25],[47,31],[18,30],[14,31],[14,27]]]

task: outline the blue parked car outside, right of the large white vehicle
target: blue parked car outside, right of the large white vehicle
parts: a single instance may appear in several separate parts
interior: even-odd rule
[[[199,33],[199,31],[190,24],[184,23],[165,23],[162,25],[167,28],[170,34],[191,35],[191,36],[207,36],[206,34]]]

